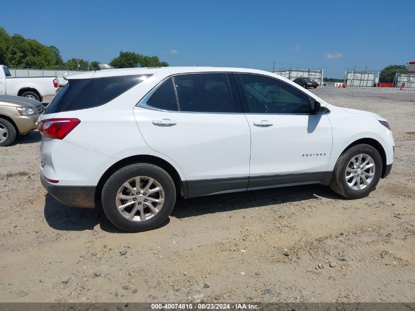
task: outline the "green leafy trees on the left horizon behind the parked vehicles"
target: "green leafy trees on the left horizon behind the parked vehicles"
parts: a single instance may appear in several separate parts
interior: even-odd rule
[[[20,34],[9,35],[0,27],[0,64],[10,68],[98,70],[100,62],[81,58],[63,61],[59,49],[55,46],[26,39]],[[168,66],[168,63],[160,61],[157,56],[140,55],[134,52],[120,52],[110,64],[116,68]]]

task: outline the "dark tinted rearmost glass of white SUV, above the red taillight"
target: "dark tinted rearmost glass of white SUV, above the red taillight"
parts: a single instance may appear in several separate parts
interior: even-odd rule
[[[148,78],[148,75],[69,79],[48,105],[46,113],[98,107]]]

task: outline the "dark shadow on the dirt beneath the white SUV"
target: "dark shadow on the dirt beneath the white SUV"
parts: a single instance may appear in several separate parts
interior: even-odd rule
[[[319,197],[345,199],[336,195],[326,186],[307,185],[285,187],[190,198],[186,200],[179,199],[170,217],[181,219],[203,214],[318,199]],[[125,233],[110,223],[101,207],[95,209],[70,207],[60,203],[49,194],[45,196],[44,215],[48,225],[56,230],[93,230],[95,226],[99,225],[106,232]],[[159,226],[159,228],[166,226],[168,223],[169,219]]]

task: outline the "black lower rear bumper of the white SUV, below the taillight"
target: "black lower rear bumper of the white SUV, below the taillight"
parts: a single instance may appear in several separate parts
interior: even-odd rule
[[[48,183],[43,175],[40,175],[42,186],[49,194],[59,202],[74,207],[95,207],[94,186],[58,186]]]

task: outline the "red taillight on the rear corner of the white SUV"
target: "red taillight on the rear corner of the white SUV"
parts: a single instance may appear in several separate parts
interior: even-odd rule
[[[62,140],[79,123],[81,120],[77,118],[45,119],[39,121],[38,129],[42,136]]]

